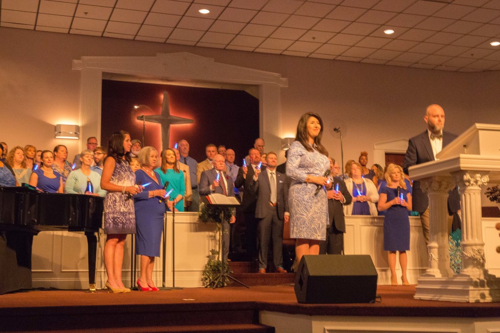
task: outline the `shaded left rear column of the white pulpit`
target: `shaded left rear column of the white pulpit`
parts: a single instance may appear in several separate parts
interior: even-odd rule
[[[429,197],[429,268],[426,274],[436,278],[451,277],[448,246],[448,191],[455,187],[451,177],[434,176],[420,181]]]

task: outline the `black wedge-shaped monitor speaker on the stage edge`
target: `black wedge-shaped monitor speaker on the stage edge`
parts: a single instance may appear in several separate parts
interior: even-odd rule
[[[295,275],[298,303],[370,303],[377,273],[369,255],[303,256]]]

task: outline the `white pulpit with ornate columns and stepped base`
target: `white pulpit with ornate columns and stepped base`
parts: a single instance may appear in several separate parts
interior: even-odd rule
[[[500,125],[474,124],[438,160],[409,168],[429,197],[428,269],[418,279],[415,299],[455,302],[500,301],[500,278],[485,268],[481,231],[481,186],[500,180]],[[447,197],[458,186],[462,219],[462,269],[449,268]]]

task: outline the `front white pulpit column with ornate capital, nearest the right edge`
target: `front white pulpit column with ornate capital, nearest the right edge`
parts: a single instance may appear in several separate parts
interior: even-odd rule
[[[484,242],[481,231],[481,186],[489,181],[488,175],[475,171],[459,171],[453,176],[460,192],[462,218],[462,269],[460,273],[473,279],[484,279]]]

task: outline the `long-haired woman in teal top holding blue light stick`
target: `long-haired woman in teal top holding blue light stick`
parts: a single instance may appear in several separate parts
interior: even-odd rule
[[[161,178],[161,185],[168,182],[166,191],[172,190],[170,193],[170,200],[167,200],[167,206],[170,211],[173,210],[173,203],[175,202],[175,211],[184,211],[184,194],[186,186],[184,182],[184,173],[177,167],[175,152],[167,148],[161,153],[161,167],[156,168],[156,171]]]

